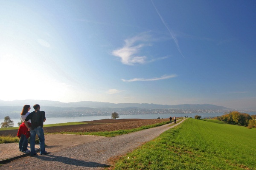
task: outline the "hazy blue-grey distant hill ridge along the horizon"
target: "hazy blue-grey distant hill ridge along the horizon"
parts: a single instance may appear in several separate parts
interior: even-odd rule
[[[108,102],[69,102],[63,103],[58,101],[49,101],[49,100],[14,100],[14,101],[3,101],[0,100],[0,106],[23,106],[34,104],[39,104],[41,106],[51,106],[51,107],[63,107],[63,108],[143,108],[143,109],[209,109],[209,110],[227,110],[228,108],[224,106],[203,104],[203,105],[157,105],[157,104],[148,104],[148,103],[108,103]]]

